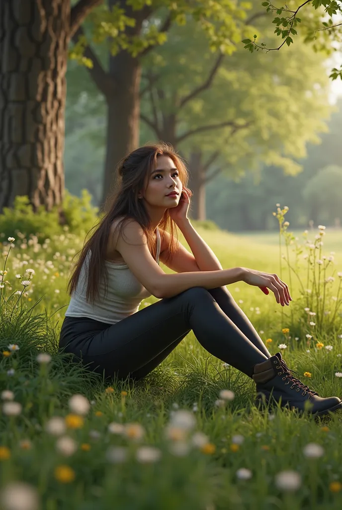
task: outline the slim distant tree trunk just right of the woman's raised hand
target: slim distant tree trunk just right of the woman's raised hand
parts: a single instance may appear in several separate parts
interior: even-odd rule
[[[203,168],[202,151],[192,151],[189,158],[190,183],[193,191],[191,197],[191,217],[196,220],[206,219],[206,172]]]

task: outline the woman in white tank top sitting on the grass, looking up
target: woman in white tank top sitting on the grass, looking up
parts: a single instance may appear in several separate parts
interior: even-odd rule
[[[251,377],[259,399],[271,392],[282,406],[328,414],[342,406],[321,398],[272,356],[226,289],[243,281],[269,289],[281,306],[291,300],[276,274],[244,267],[222,269],[187,213],[191,191],[186,166],[173,147],[140,147],[117,168],[118,190],[108,213],[81,250],[68,283],[71,295],[60,348],[105,377],[146,376],[192,329],[211,354]],[[175,224],[192,253],[174,236]],[[170,234],[167,232],[167,228]],[[166,274],[159,259],[176,271]],[[141,300],[160,298],[138,310]]]

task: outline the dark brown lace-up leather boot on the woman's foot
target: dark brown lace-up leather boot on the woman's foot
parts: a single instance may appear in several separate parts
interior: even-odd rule
[[[299,411],[307,410],[315,416],[322,416],[342,409],[342,402],[338,397],[322,398],[318,393],[310,390],[299,379],[294,377],[291,370],[281,358],[280,352],[268,360],[254,365],[253,380],[257,383],[256,404],[271,402],[272,397],[281,407]],[[271,394],[272,393],[272,394]],[[309,403],[306,403],[309,402]]]

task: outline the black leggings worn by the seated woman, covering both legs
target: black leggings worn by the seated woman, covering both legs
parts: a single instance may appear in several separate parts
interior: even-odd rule
[[[190,289],[117,322],[65,317],[60,348],[105,377],[138,380],[193,330],[211,354],[249,377],[271,354],[226,287]]]

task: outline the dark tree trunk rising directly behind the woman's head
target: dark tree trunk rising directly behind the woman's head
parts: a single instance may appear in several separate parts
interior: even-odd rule
[[[139,145],[141,65],[138,59],[122,50],[109,57],[109,74],[114,78],[115,93],[107,96],[107,138],[102,204],[115,189],[115,168],[119,161]],[[109,193],[110,194],[110,193]]]

